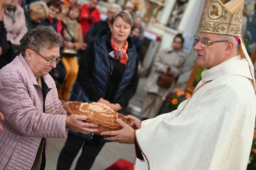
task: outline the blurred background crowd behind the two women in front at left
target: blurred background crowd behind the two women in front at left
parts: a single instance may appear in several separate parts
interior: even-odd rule
[[[19,40],[27,31],[38,26],[52,26],[64,44],[60,47],[61,62],[50,75],[57,84],[59,98],[69,101],[68,94],[86,48],[100,30],[110,27],[113,14],[122,10],[120,5],[110,5],[106,20],[101,21],[97,4],[98,0],[89,0],[88,4],[82,5],[77,4],[77,0],[12,0],[4,10],[0,27],[0,68],[19,55]],[[129,3],[126,7],[130,9]],[[133,10],[129,12],[132,14]],[[141,59],[144,26],[140,16],[134,18],[132,30],[132,41]]]

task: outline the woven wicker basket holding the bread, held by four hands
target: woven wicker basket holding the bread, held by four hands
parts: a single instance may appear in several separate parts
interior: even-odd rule
[[[83,102],[66,102],[64,103],[63,107],[64,109],[67,111],[68,115],[83,115],[82,113],[77,113],[75,112],[75,108],[77,106],[80,106],[80,104]],[[124,121],[126,124],[128,124],[129,126],[133,126],[133,121],[132,120],[127,120],[124,118],[124,115],[115,112],[116,114],[118,114],[118,118],[121,119],[122,121]],[[116,123],[111,123],[111,122],[105,122],[102,120],[96,120],[90,117],[87,117],[87,119],[85,120],[85,122],[89,122],[89,123],[93,123],[93,124],[98,124],[98,132],[94,133],[97,135],[100,135],[101,132],[105,132],[105,131],[115,131],[115,130],[119,130],[122,129],[122,126],[120,126],[119,124]]]

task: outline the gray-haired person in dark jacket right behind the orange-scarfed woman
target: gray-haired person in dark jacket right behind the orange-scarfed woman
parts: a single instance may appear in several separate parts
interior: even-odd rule
[[[115,3],[111,4],[107,12],[108,18],[104,21],[94,22],[93,24],[91,24],[89,30],[86,32],[84,36],[84,43],[86,44],[86,46],[88,46],[88,44],[90,44],[93,41],[94,37],[100,32],[100,30],[104,28],[109,28],[111,25],[111,17],[114,15],[114,13],[121,11],[122,8],[120,5],[117,5]]]

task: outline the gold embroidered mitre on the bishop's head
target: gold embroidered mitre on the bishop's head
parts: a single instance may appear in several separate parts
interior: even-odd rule
[[[200,32],[240,37],[242,33],[243,0],[205,0]]]

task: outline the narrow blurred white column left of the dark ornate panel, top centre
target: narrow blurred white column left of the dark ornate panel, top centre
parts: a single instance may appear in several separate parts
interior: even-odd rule
[[[175,3],[176,3],[176,0],[165,0],[162,11],[161,11],[161,16],[157,17],[158,22],[167,25]]]

